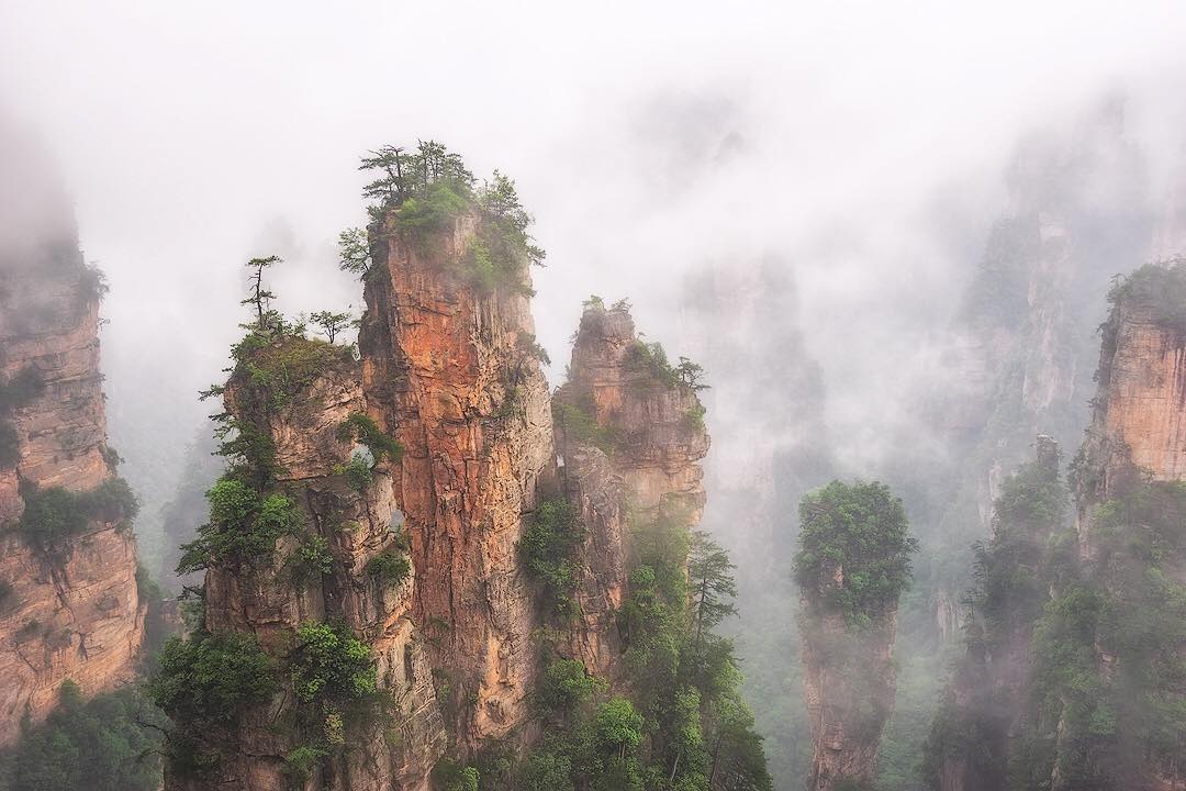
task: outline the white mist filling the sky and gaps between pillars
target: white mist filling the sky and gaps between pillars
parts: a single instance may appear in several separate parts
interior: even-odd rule
[[[797,789],[788,755],[806,734],[763,706],[801,706],[786,562],[799,495],[833,477],[903,489],[924,556],[900,633],[930,645],[920,624],[950,604],[936,592],[959,597],[952,569],[988,535],[935,480],[955,480],[976,441],[936,415],[974,389],[959,359],[990,234],[1027,211],[1076,240],[1098,230],[1069,254],[1091,273],[1061,317],[1072,406],[1039,404],[1041,425],[1019,430],[1054,434],[1069,458],[1109,279],[1186,245],[1184,40],[1186,8],[1152,0],[0,0],[0,115],[53,160],[107,275],[108,425],[154,572],[186,511],[171,505],[200,505],[217,476],[195,461],[216,410],[198,393],[242,334],[243,263],[283,259],[286,314],[357,317],[337,240],[366,223],[361,157],[434,139],[514,178],[548,251],[533,312],[551,385],[591,294],[627,298],[648,340],[706,368],[704,525],[739,567],[727,631],[747,676],[763,657],[750,703],[776,787]],[[57,222],[34,203],[0,189],[0,248]],[[945,672],[912,656],[904,680]],[[911,700],[930,713],[937,689]]]

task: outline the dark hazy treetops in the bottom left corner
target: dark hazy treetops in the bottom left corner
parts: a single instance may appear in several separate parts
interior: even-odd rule
[[[60,704],[23,731],[4,755],[6,791],[154,791],[160,786],[160,710],[135,687],[83,702],[78,685],[62,683]]]

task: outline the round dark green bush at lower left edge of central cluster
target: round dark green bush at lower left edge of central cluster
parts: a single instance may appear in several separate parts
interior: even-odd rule
[[[149,681],[148,696],[190,732],[234,722],[280,689],[275,661],[255,636],[196,632],[170,638]]]

